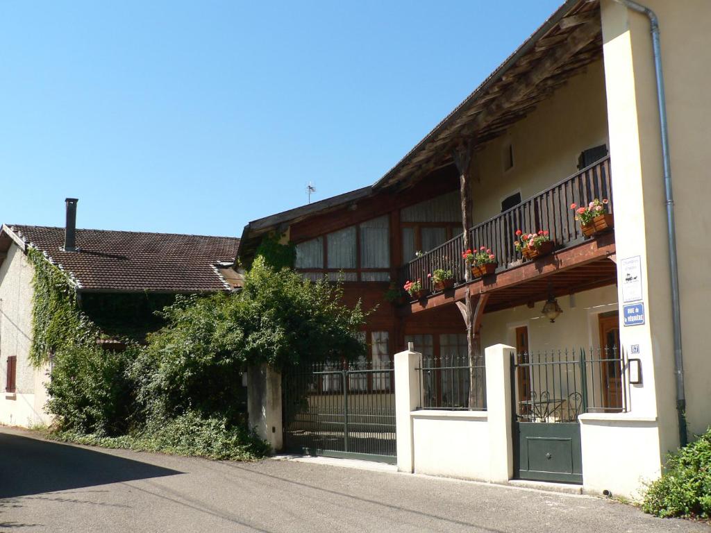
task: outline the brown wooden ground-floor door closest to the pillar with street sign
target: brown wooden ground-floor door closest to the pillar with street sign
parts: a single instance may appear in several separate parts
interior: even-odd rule
[[[602,362],[602,402],[606,411],[622,409],[622,367],[620,364],[620,325],[617,312],[599,316],[600,359]],[[610,360],[606,362],[606,360]]]

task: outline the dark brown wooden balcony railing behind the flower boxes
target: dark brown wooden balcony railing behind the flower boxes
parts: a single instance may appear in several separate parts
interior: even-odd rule
[[[607,198],[608,211],[612,212],[609,156],[502,212],[501,215],[472,227],[469,230],[470,245],[472,249],[481,246],[491,249],[491,252],[496,254],[498,272],[510,268],[521,258],[515,249],[516,230],[528,233],[547,230],[555,242],[556,249],[578,244],[582,242],[583,235],[570,204],[587,205],[595,198]],[[476,202],[476,199],[474,201]],[[427,287],[427,274],[447,264],[452,267],[455,284],[464,283],[466,263],[461,258],[463,250],[464,237],[460,234],[413,259],[400,269],[400,286],[407,280],[421,279],[423,286]]]

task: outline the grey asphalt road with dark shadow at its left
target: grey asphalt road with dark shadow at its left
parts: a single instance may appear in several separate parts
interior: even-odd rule
[[[0,457],[0,532],[711,532],[592,497],[107,451],[14,429],[0,429]]]

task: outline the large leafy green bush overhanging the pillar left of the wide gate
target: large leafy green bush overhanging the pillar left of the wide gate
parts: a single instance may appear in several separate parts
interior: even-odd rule
[[[179,298],[134,367],[146,419],[194,409],[237,424],[235,398],[248,365],[283,370],[364,355],[364,313],[344,306],[341,296],[337,285],[314,284],[257,258],[240,294]]]

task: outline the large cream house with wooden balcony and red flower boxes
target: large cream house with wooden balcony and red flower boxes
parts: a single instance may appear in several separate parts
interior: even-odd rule
[[[304,276],[380,304],[368,362],[317,369],[304,413],[284,399],[287,446],[395,461],[397,425],[402,470],[636,496],[709,426],[711,5],[644,3],[566,1],[373,185],[245,227],[243,261],[278,235]],[[588,237],[571,204],[595,199],[614,230]],[[554,249],[524,259],[517,230]],[[472,276],[461,254],[481,246],[496,271]],[[444,291],[427,278],[440,268]],[[429,294],[385,301],[418,279]],[[392,370],[408,343],[409,393]],[[488,352],[510,360],[493,383],[513,397],[503,441]]]

